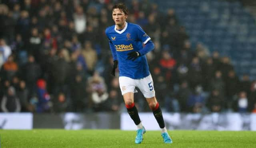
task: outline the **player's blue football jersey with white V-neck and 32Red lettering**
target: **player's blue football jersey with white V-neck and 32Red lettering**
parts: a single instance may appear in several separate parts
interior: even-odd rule
[[[116,25],[106,29],[113,60],[118,60],[119,76],[141,79],[150,74],[146,55],[136,60],[128,60],[128,53],[140,51],[143,43],[146,44],[150,37],[136,24],[127,23],[122,30],[117,30]]]

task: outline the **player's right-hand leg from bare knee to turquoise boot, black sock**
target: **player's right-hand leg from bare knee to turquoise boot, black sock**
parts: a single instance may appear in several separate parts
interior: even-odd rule
[[[146,98],[146,100],[148,102],[148,106],[153,111],[154,117],[156,118],[159,127],[161,128],[161,135],[164,138],[164,143],[172,143],[172,139],[170,138],[164,125],[164,118],[159,103],[156,100],[156,97]]]

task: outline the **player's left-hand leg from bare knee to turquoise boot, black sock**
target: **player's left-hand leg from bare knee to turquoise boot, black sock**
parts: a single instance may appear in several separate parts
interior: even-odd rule
[[[128,111],[128,114],[134,121],[134,123],[137,126],[137,136],[135,138],[135,143],[140,144],[143,140],[143,134],[146,132],[145,128],[142,126],[142,123],[140,121],[140,117],[138,114],[138,110],[136,106],[134,105],[134,93],[128,92],[123,95],[124,97],[124,103],[126,106],[126,109]]]

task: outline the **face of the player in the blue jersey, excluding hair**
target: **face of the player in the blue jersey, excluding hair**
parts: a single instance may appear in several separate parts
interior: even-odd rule
[[[123,26],[125,23],[125,20],[127,18],[127,15],[124,14],[124,12],[122,12],[122,10],[116,8],[112,12],[112,18],[113,18],[114,22],[116,23],[116,25]]]

